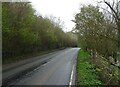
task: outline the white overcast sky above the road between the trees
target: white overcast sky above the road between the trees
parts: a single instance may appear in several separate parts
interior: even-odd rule
[[[65,23],[64,31],[70,31],[74,27],[71,21],[74,15],[79,11],[82,4],[96,5],[96,1],[100,0],[29,0],[32,2],[33,8],[42,16],[60,17]]]

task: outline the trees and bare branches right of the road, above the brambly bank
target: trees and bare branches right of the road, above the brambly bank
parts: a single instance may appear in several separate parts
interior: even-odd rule
[[[106,6],[100,6],[104,4]],[[74,33],[79,45],[91,52],[93,58],[99,53],[115,62],[120,60],[120,1],[98,2],[99,6],[83,6],[76,14]],[[113,62],[114,62],[113,61]]]

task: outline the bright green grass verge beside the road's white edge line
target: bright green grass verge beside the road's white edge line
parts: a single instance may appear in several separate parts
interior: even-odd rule
[[[94,66],[90,63],[90,56],[87,52],[79,50],[77,58],[77,86],[80,85],[101,85]]]

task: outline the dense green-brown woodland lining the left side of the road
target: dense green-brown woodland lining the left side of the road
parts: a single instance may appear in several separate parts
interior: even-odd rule
[[[3,60],[39,51],[76,46],[61,20],[36,14],[28,2],[2,3]]]

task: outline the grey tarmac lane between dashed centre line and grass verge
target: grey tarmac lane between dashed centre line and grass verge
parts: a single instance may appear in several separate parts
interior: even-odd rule
[[[9,85],[74,85],[78,50],[69,48],[44,56],[42,59],[46,59],[46,62],[11,81]]]

